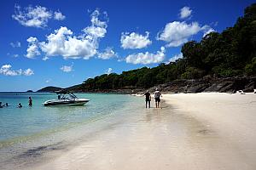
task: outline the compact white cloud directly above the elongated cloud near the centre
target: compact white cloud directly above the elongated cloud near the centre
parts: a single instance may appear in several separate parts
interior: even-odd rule
[[[152,42],[148,39],[149,32],[145,32],[146,35],[140,35],[137,34],[136,32],[122,32],[121,36],[121,47],[122,48],[145,48],[148,45],[150,45]]]

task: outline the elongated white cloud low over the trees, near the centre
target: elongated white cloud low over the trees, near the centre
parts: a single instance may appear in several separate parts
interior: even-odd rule
[[[138,53],[138,54],[130,54],[125,58],[126,63],[132,63],[132,64],[143,64],[143,65],[148,65],[151,63],[160,63],[165,59],[165,54],[166,50],[164,47],[160,48],[160,51],[157,51],[156,54],[151,54],[146,52],[145,54],[143,53]]]

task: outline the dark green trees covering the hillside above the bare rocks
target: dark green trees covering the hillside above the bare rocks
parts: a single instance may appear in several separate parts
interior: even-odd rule
[[[201,42],[186,42],[183,59],[154,68],[104,74],[89,78],[76,88],[79,91],[150,88],[181,79],[207,77],[248,77],[256,74],[256,3],[245,8],[235,26],[221,33],[212,32]]]

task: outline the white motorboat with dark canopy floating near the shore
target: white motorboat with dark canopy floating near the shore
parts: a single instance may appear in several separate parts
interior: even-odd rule
[[[75,94],[68,91],[57,92],[58,99],[50,99],[43,103],[44,106],[52,105],[67,105],[67,106],[82,106],[90,101],[90,99],[79,99]]]

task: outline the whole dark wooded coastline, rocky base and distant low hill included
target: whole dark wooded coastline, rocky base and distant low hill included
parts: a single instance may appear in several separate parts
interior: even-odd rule
[[[158,87],[173,93],[253,92],[256,88],[256,3],[221,33],[211,32],[201,42],[181,49],[183,59],[154,68],[143,67],[121,74],[103,74],[66,88],[73,92],[142,93]],[[47,87],[38,92],[61,88]]]

